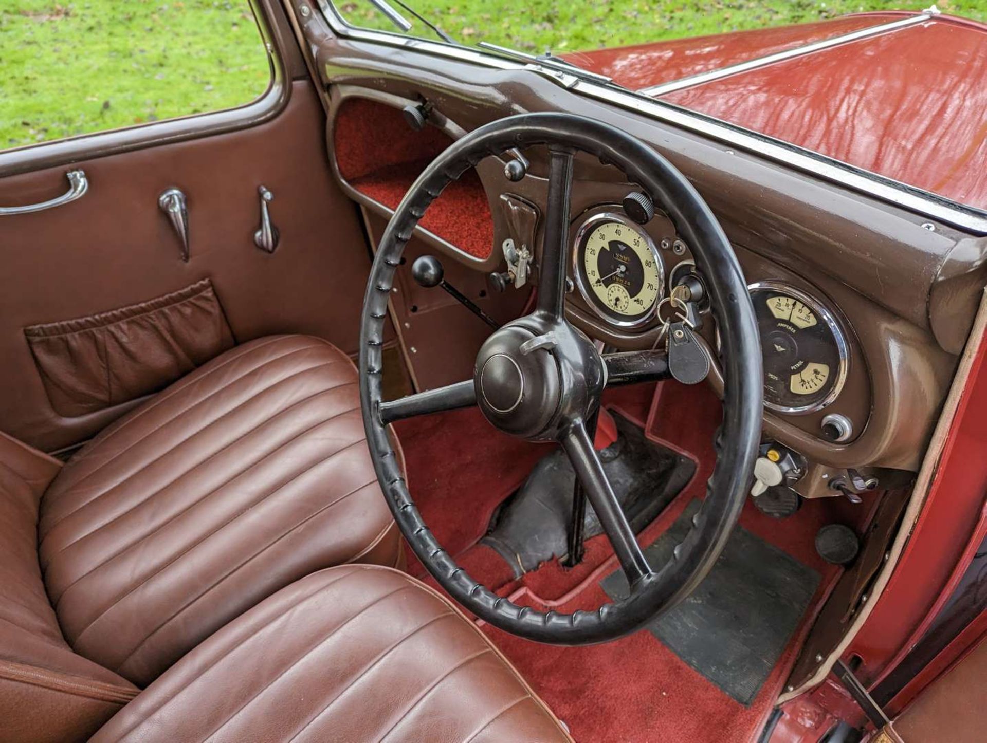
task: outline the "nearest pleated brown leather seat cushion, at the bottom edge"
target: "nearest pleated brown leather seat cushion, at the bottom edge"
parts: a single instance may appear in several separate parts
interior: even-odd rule
[[[486,636],[382,567],[334,567],[209,637],[93,738],[569,741]]]

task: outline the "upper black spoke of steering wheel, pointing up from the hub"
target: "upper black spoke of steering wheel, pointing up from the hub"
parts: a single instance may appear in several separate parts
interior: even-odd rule
[[[549,192],[545,240],[538,277],[538,311],[563,317],[566,301],[566,257],[569,254],[569,212],[572,196],[572,152],[549,149]]]

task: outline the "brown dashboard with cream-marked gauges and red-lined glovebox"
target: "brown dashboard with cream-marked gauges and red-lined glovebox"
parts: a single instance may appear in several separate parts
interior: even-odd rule
[[[457,101],[437,96],[430,113],[432,126],[415,145],[406,141],[414,133],[409,134],[401,109],[426,98],[427,92],[402,95],[393,86],[385,92],[362,84],[340,85],[336,90],[330,111],[335,126],[331,125],[329,138],[337,177],[366,210],[371,236],[379,235],[380,220],[393,212],[427,162],[465,133],[459,122],[476,115],[477,109],[457,109]],[[346,121],[347,104],[354,101],[360,106],[373,101],[378,108],[367,111],[362,123]],[[345,136],[334,142],[334,132],[344,126]],[[380,141],[354,149],[351,142],[360,132],[364,136],[377,132]],[[437,133],[445,140],[436,139]],[[547,158],[537,151],[526,154],[530,167],[519,182],[507,177],[507,158],[492,157],[478,164],[475,178],[462,179],[432,204],[410,248],[444,254],[474,275],[502,272],[508,245],[530,249],[528,284],[537,285]],[[937,326],[936,317],[930,317],[929,284],[923,281],[945,264],[943,256],[952,238],[915,225],[909,234],[916,243],[935,243],[936,250],[946,252],[935,268],[923,267],[919,259],[927,260],[931,248],[891,240],[883,234],[890,229],[869,232],[862,222],[848,228],[839,219],[820,218],[818,206],[804,200],[790,199],[793,205],[787,210],[774,203],[769,208],[768,196],[775,198],[772,192],[735,187],[727,166],[747,165],[734,163],[735,157],[719,154],[718,167],[696,186],[733,245],[755,309],[764,362],[765,456],[791,465],[786,483],[804,497],[848,494],[834,483],[850,484],[850,490],[870,483],[894,486],[918,470],[961,347],[949,337],[960,338],[964,324],[972,319],[968,300],[976,294],[968,291],[961,311],[957,303],[949,313],[936,316],[951,320]],[[689,169],[683,170],[688,175]],[[773,175],[780,181],[788,174]],[[632,202],[643,195],[616,169],[577,156],[567,315],[610,348],[659,347],[665,342],[665,321],[681,310],[672,301],[673,294],[689,286],[695,294],[692,321],[714,362],[708,383],[721,393],[716,320],[702,297],[702,271],[660,206],[653,216],[641,218],[641,204]],[[860,206],[859,200],[855,204]],[[867,206],[866,216],[880,222],[887,214]],[[876,268],[873,256],[883,261]],[[887,262],[888,257],[898,262]],[[449,274],[453,268],[447,263],[446,270]],[[893,280],[885,284],[890,276]],[[457,283],[470,280],[464,276]],[[416,301],[415,288],[403,287],[403,291],[409,312],[415,313],[423,306]],[[511,287],[504,294],[509,300],[484,290],[471,296],[496,316],[498,302],[511,302],[516,309],[522,293]],[[449,317],[443,316],[443,322],[448,323]],[[438,356],[441,363],[426,369],[432,357],[427,352],[428,337],[442,335],[436,328],[425,330],[426,318],[421,315],[395,320],[399,333],[407,336],[406,343],[414,334],[408,344],[417,349],[411,360],[418,366],[413,376],[419,388],[464,378],[472,364],[468,349],[462,359],[448,353]]]

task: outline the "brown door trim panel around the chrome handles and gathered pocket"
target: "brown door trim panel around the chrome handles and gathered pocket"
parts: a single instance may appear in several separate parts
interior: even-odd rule
[[[55,451],[90,438],[140,399],[59,414],[41,384],[26,328],[117,310],[206,278],[237,342],[293,331],[355,351],[350,312],[360,303],[369,258],[356,209],[324,165],[322,119],[312,84],[297,81],[285,109],[266,123],[79,162],[73,167],[91,182],[83,199],[0,222],[8,249],[0,300],[7,381],[0,418],[7,432]],[[62,187],[64,170],[2,179],[0,202],[47,198]],[[189,262],[158,208],[158,196],[171,186],[188,196]],[[270,212],[281,239],[273,254],[253,240],[259,186],[275,195]]]

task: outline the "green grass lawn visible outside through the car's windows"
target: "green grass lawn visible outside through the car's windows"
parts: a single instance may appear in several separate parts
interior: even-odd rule
[[[406,0],[467,43],[555,52],[920,8],[908,0]],[[393,30],[366,0],[354,25]],[[313,3],[314,4],[314,3]],[[987,20],[987,0],[942,10]],[[413,33],[431,36],[416,22]],[[266,53],[247,0],[0,0],[0,149],[260,96]]]

